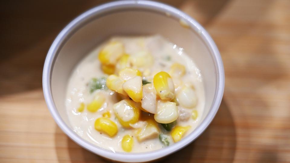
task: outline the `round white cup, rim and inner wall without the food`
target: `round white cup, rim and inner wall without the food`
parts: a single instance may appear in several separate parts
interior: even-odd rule
[[[180,20],[188,24],[184,27]],[[153,152],[123,153],[103,149],[78,136],[65,107],[66,86],[73,68],[90,50],[114,35],[160,34],[183,47],[201,70],[205,86],[205,111],[198,127],[181,141]],[[74,142],[102,157],[123,162],[144,162],[176,152],[195,140],[211,123],[224,92],[224,68],[209,34],[193,18],[159,2],[117,1],[86,11],[56,37],[43,68],[43,93],[58,126]]]

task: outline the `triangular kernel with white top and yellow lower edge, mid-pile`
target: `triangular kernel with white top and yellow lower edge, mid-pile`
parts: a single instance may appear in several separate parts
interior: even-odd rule
[[[135,76],[134,78],[130,78],[122,85],[122,88],[133,101],[141,102],[141,99],[143,97],[141,76]]]

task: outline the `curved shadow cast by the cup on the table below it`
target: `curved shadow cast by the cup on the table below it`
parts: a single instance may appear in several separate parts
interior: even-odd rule
[[[71,162],[108,162],[104,158],[89,152],[67,136],[61,133],[59,127],[56,127],[55,143],[59,162],[64,162],[67,158],[63,152],[68,151],[69,161]],[[57,143],[65,143],[68,149],[58,147]],[[220,109],[211,125],[206,131],[193,143],[184,149],[169,155],[160,162],[233,162],[236,149],[236,129],[233,117],[227,104],[223,100]]]

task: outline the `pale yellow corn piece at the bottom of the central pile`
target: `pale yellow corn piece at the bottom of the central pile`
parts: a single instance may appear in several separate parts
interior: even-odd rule
[[[151,119],[146,120],[146,122],[147,124],[144,127],[138,128],[136,131],[137,139],[139,142],[156,138],[159,135],[159,129],[156,122]]]

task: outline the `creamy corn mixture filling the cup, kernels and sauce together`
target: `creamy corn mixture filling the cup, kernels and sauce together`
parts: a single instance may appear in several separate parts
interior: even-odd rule
[[[113,152],[148,152],[191,133],[204,98],[194,61],[154,35],[113,37],[96,47],[73,70],[65,103],[83,139]]]

